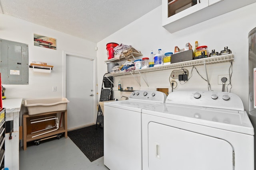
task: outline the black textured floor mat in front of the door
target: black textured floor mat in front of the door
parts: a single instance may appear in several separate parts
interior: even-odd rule
[[[99,125],[69,131],[68,137],[91,162],[103,156],[103,128]]]

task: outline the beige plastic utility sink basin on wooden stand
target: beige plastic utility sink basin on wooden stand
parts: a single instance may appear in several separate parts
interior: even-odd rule
[[[52,111],[64,111],[67,109],[67,103],[69,103],[67,98],[35,99],[25,100],[24,106],[27,107],[29,115],[36,115]]]

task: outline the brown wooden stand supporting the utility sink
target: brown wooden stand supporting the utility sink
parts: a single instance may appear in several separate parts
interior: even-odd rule
[[[28,128],[30,128],[30,119],[34,119],[34,118],[38,118],[38,117],[52,116],[52,115],[56,115],[57,113],[62,113],[62,127],[59,127],[59,129],[56,131],[52,131],[52,132],[46,133],[44,135],[33,137],[42,132],[31,133],[31,129],[28,129]],[[50,130],[46,130],[46,131],[50,131]],[[24,115],[23,115],[23,150],[27,149],[27,142],[36,141],[38,139],[44,139],[46,137],[57,135],[59,133],[64,133],[65,138],[68,137],[67,110],[40,113],[40,114],[36,114],[36,115],[28,115],[28,113],[24,113]]]

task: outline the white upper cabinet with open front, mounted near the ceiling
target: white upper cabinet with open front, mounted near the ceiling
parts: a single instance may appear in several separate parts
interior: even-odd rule
[[[174,33],[256,0],[162,0],[162,25]]]

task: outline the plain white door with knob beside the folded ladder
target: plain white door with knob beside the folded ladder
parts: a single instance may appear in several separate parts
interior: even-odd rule
[[[95,70],[93,59],[66,55],[66,98],[70,101],[67,106],[68,129],[84,127],[95,121]]]

